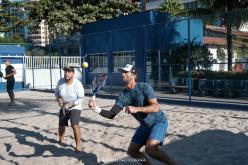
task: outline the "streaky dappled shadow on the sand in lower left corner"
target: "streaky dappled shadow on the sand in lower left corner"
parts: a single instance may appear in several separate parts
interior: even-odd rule
[[[74,149],[72,149],[72,146],[70,148],[66,147],[57,147],[55,144],[57,144],[57,141],[54,139],[50,139],[46,136],[43,136],[42,134],[34,131],[28,131],[20,128],[3,128],[0,127],[0,129],[7,130],[13,134],[15,134],[15,138],[19,144],[27,145],[29,147],[33,147],[34,152],[32,154],[18,154],[16,152],[12,152],[11,148],[13,147],[12,144],[5,143],[6,150],[9,153],[9,156],[11,157],[24,157],[24,158],[31,158],[31,157],[61,157],[61,156],[67,156],[67,157],[73,157],[84,163],[85,165],[97,165],[100,164],[97,162],[97,157],[93,153],[86,153],[86,152],[75,152]],[[35,140],[43,142],[47,141],[47,144],[38,144],[35,142],[30,142],[27,140],[27,137],[35,138]],[[47,151],[49,154],[46,154]],[[15,163],[16,164],[16,163]]]

